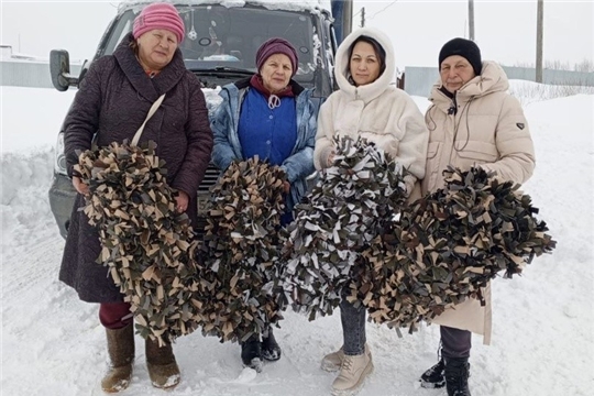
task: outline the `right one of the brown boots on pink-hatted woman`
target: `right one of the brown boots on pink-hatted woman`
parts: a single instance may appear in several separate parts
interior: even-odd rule
[[[154,387],[170,388],[179,384],[179,367],[170,343],[160,348],[157,340],[146,339],[146,367]]]

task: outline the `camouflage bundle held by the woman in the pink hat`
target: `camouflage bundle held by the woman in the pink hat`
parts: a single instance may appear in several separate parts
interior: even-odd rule
[[[99,231],[97,262],[131,304],[138,332],[163,343],[196,329],[199,272],[189,219],[175,211],[176,190],[155,147],[112,143],[80,154],[75,169],[91,193],[84,211]]]

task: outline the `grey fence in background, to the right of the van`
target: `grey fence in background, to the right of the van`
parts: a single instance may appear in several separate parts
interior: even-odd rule
[[[536,80],[536,70],[527,67],[503,66],[509,79]],[[409,95],[427,97],[439,79],[437,67],[406,67],[404,89]],[[594,73],[570,70],[542,70],[542,84],[594,87]]]

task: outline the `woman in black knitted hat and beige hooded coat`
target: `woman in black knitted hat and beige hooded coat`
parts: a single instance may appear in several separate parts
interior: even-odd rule
[[[482,62],[472,41],[453,38],[441,48],[439,72],[425,117],[430,134],[422,194],[443,186],[448,165],[463,170],[479,165],[504,180],[528,180],[535,168],[532,139],[520,103],[507,94],[502,67]],[[491,341],[488,285],[483,296],[485,306],[471,298],[433,320],[441,324],[441,359],[422,374],[421,386],[446,385],[449,396],[470,396],[471,333]]]

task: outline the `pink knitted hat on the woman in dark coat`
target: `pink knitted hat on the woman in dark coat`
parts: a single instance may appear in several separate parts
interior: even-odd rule
[[[177,43],[182,43],[186,29],[179,13],[169,3],[152,3],[146,6],[134,20],[132,34],[139,38],[153,29],[163,29],[177,36]]]

